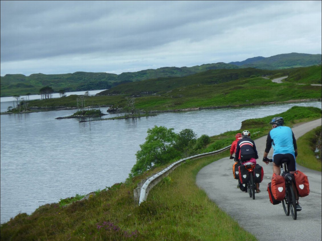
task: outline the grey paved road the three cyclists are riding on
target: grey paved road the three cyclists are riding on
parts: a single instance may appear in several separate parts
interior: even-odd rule
[[[292,130],[298,138],[321,124],[322,119],[319,119],[294,127]],[[293,220],[292,216],[284,214],[282,204],[272,205],[268,197],[267,184],[272,177],[273,166],[271,163],[265,165],[261,161],[266,137],[256,139],[255,144],[260,157],[258,163],[264,168],[263,182],[260,183],[261,192],[255,195],[255,200],[252,200],[248,193],[237,189],[238,182],[232,176],[233,160],[230,160],[229,156],[201,169],[196,177],[197,185],[222,210],[237,220],[241,227],[255,235],[260,241],[322,240],[321,172],[297,165],[297,169],[308,175],[310,194],[299,199],[302,211],[298,212],[297,220]],[[298,155],[300,156],[301,153]],[[272,150],[268,157],[272,158]]]

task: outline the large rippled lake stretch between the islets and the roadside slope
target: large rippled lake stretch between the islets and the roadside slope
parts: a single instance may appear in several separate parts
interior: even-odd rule
[[[81,123],[55,120],[75,110],[1,115],[1,223],[19,212],[31,214],[43,204],[124,182],[154,125],[213,136],[294,105],[321,108],[321,102],[309,102]]]

